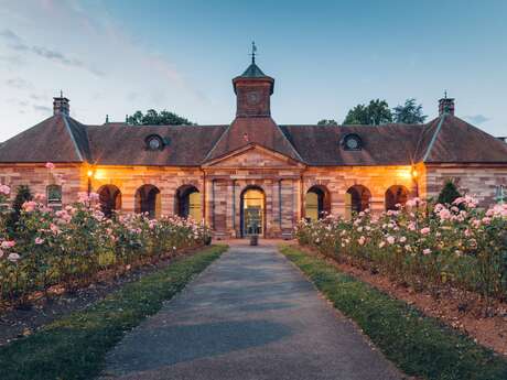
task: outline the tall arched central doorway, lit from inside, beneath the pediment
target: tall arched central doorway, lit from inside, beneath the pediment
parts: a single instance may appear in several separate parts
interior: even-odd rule
[[[262,188],[250,186],[241,193],[241,236],[263,235],[266,196]]]

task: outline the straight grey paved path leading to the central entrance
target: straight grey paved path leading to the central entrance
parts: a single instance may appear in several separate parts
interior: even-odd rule
[[[105,373],[122,380],[402,378],[273,246],[233,246],[127,334]]]

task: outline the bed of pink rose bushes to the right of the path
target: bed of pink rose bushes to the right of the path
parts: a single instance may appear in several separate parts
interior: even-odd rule
[[[380,216],[302,220],[295,235],[321,253],[416,290],[507,300],[507,205],[484,210],[471,197],[434,206],[416,198]]]

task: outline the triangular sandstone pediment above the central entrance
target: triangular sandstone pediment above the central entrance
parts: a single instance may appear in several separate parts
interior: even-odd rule
[[[230,169],[284,169],[304,165],[287,155],[257,144],[250,144],[222,158],[208,161],[203,166]]]

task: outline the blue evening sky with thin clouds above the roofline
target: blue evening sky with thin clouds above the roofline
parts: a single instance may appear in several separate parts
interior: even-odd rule
[[[280,124],[342,122],[370,99],[416,98],[507,135],[507,1],[0,0],[0,141],[52,115],[83,123],[168,109],[229,123],[231,78],[276,78]]]

